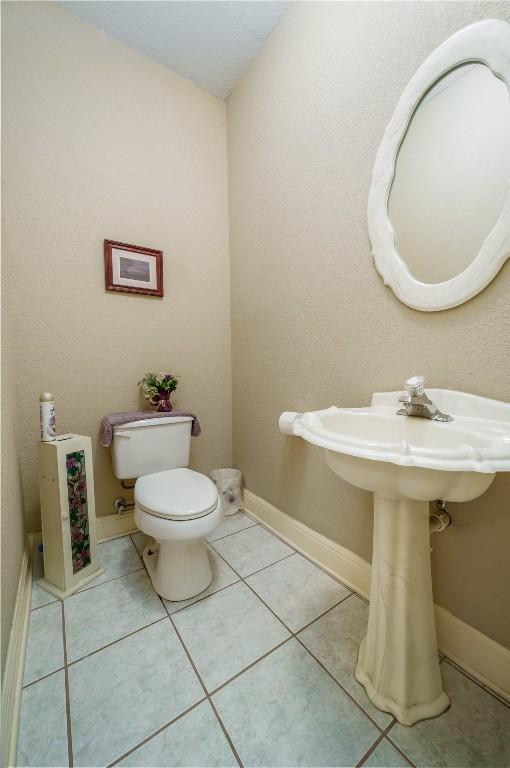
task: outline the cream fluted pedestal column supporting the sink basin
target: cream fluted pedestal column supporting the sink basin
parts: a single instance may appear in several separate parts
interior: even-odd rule
[[[355,676],[404,725],[450,704],[437,655],[426,501],[374,494],[370,610]]]

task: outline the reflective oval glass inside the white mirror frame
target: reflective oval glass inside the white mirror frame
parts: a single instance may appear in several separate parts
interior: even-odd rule
[[[388,211],[417,280],[463,272],[494,228],[510,180],[510,98],[484,64],[463,64],[418,104],[397,155]]]

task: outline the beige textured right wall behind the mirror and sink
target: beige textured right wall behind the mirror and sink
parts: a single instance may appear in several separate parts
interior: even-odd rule
[[[359,406],[411,374],[510,398],[510,264],[434,314],[376,273],[366,205],[377,147],[426,56],[505,2],[294,3],[228,100],[234,461],[246,486],[371,555],[372,500],[278,432],[283,410]],[[510,476],[434,537],[436,601],[510,645]]]

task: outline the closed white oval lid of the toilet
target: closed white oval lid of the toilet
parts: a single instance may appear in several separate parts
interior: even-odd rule
[[[191,469],[168,469],[139,477],[135,502],[145,512],[169,520],[193,520],[211,512],[218,503],[212,480]]]

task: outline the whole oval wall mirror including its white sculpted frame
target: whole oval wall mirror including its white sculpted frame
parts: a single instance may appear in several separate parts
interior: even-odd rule
[[[420,67],[374,167],[378,271],[404,303],[466,301],[510,255],[510,26],[461,30]]]

